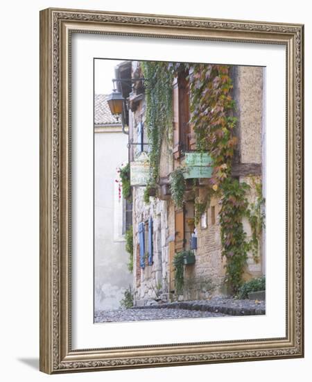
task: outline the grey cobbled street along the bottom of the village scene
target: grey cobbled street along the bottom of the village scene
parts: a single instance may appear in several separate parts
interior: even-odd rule
[[[187,310],[175,308],[145,308],[145,309],[119,309],[100,310],[94,316],[94,322],[127,322],[149,321],[153,319],[201,318],[223,317],[222,313],[211,313],[201,310]]]

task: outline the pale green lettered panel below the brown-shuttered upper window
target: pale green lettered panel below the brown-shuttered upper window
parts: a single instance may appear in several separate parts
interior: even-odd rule
[[[208,153],[185,153],[184,178],[211,178],[212,159]]]

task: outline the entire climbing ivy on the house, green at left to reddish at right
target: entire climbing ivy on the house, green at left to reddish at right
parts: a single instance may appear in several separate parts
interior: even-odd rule
[[[180,71],[189,72],[191,124],[196,134],[197,150],[208,151],[212,158],[213,174],[207,190],[222,197],[220,210],[221,242],[226,262],[226,280],[237,292],[242,283],[248,251],[257,260],[259,237],[264,222],[264,199],[259,186],[258,199],[248,206],[246,192],[250,188],[231,176],[232,159],[237,144],[234,116],[235,102],[232,99],[232,79],[229,65],[155,63],[141,64],[144,77],[148,78],[146,94],[146,126],[150,144],[151,183],[159,176],[159,158],[166,133],[170,136],[172,126],[172,83]],[[170,176],[171,197],[177,208],[184,204],[186,183],[182,169],[175,169]],[[147,197],[146,197],[147,200]],[[207,206],[206,201],[197,201],[196,222]],[[243,217],[248,217],[252,239],[246,238]]]

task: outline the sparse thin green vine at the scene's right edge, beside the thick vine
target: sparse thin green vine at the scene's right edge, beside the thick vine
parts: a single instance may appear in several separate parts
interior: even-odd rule
[[[252,238],[250,240],[250,250],[252,251],[252,257],[259,262],[259,240],[261,238],[262,229],[265,226],[266,214],[264,210],[264,204],[266,199],[262,196],[262,183],[252,179],[252,187],[256,191],[256,200],[249,204],[247,216],[250,222],[252,230]]]

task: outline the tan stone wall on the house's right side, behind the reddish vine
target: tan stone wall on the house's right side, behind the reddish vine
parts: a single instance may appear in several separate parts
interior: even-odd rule
[[[237,135],[239,138],[237,158],[239,163],[262,164],[263,137],[263,68],[233,67],[234,83],[233,97],[236,101],[236,115],[239,119]],[[252,166],[250,166],[252,168]],[[260,167],[261,168],[261,167]],[[261,174],[254,176],[239,176],[239,181],[248,183],[251,188],[247,194],[248,201],[254,203],[257,199],[254,182],[261,181]],[[198,199],[205,199],[205,188],[198,191]],[[214,294],[226,293],[224,287],[225,258],[222,256],[220,240],[220,225],[218,213],[220,199],[212,198],[205,213],[207,213],[207,229],[202,229],[200,222],[196,225],[198,248],[194,251],[196,263],[187,265],[184,269],[183,299],[207,299]],[[214,222],[211,213],[214,210]],[[251,238],[248,219],[243,219],[247,240]],[[261,243],[262,240],[260,239]],[[248,254],[247,267],[243,278],[248,280],[263,274],[262,244],[259,244],[259,260],[255,261],[252,253]]]

